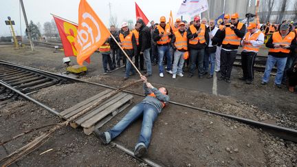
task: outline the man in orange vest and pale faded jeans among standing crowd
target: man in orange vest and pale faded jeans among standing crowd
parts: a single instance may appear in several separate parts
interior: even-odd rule
[[[175,79],[176,76],[184,76],[182,68],[184,66],[184,57],[188,54],[188,38],[184,22],[179,23],[179,30],[173,33],[171,46],[175,51],[173,62],[173,79]]]

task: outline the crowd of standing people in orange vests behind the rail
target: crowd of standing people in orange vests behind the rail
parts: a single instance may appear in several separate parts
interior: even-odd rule
[[[225,14],[221,25],[215,25],[214,19],[208,21],[195,16],[187,23],[176,19],[174,26],[161,16],[159,23],[151,21],[148,27],[140,18],[133,30],[123,22],[120,31],[111,25],[111,34],[116,38],[137,69],[144,76],[152,76],[152,65],[157,65],[159,77],[167,73],[173,79],[184,77],[185,67],[188,77],[197,75],[199,79],[212,78],[214,71],[220,72],[218,80],[231,82],[231,71],[239,47],[242,47],[241,65],[243,76],[239,79],[246,84],[254,80],[254,63],[256,55],[264,44],[269,48],[262,85],[267,85],[270,72],[276,65],[274,85],[281,88],[282,84],[294,91],[296,83],[296,37],[297,26],[292,21],[266,23],[258,29],[256,23],[241,23],[239,14]],[[124,80],[135,75],[135,70],[113,40],[100,47],[104,72],[125,65]],[[107,68],[109,64],[109,69]],[[196,72],[197,70],[197,72]],[[166,71],[166,72],[165,72]]]

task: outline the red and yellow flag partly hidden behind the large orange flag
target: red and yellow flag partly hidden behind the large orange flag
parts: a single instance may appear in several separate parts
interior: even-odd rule
[[[77,56],[76,47],[74,47],[74,40],[77,35],[78,25],[76,23],[65,21],[65,19],[58,16],[53,17],[60,34],[65,56]],[[89,58],[86,61],[87,63],[90,63]]]

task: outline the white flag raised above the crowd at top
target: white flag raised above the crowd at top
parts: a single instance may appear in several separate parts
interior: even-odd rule
[[[189,14],[195,16],[206,10],[208,10],[207,0],[183,0],[177,15]]]

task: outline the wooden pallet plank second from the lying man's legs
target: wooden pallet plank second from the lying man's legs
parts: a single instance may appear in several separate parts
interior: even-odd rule
[[[98,113],[100,113],[104,109],[107,109],[107,107],[115,104],[115,102],[118,102],[119,100],[121,100],[125,96],[126,96],[126,93],[116,94],[115,96],[112,97],[112,99],[110,98],[110,100],[108,102],[106,102],[105,104],[102,104],[99,108],[94,109],[90,113],[85,114],[82,118],[78,118],[78,120],[76,120],[74,122],[76,122],[76,124],[83,124],[83,122],[89,120],[90,118],[93,118],[95,115],[97,115]]]

